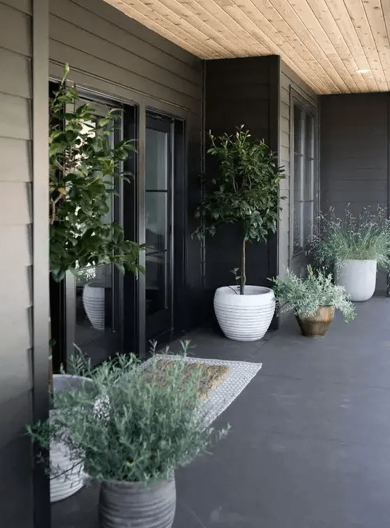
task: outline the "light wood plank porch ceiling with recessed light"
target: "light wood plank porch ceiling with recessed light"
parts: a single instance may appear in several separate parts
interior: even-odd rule
[[[105,0],[199,58],[281,55],[318,94],[390,90],[390,0]]]

